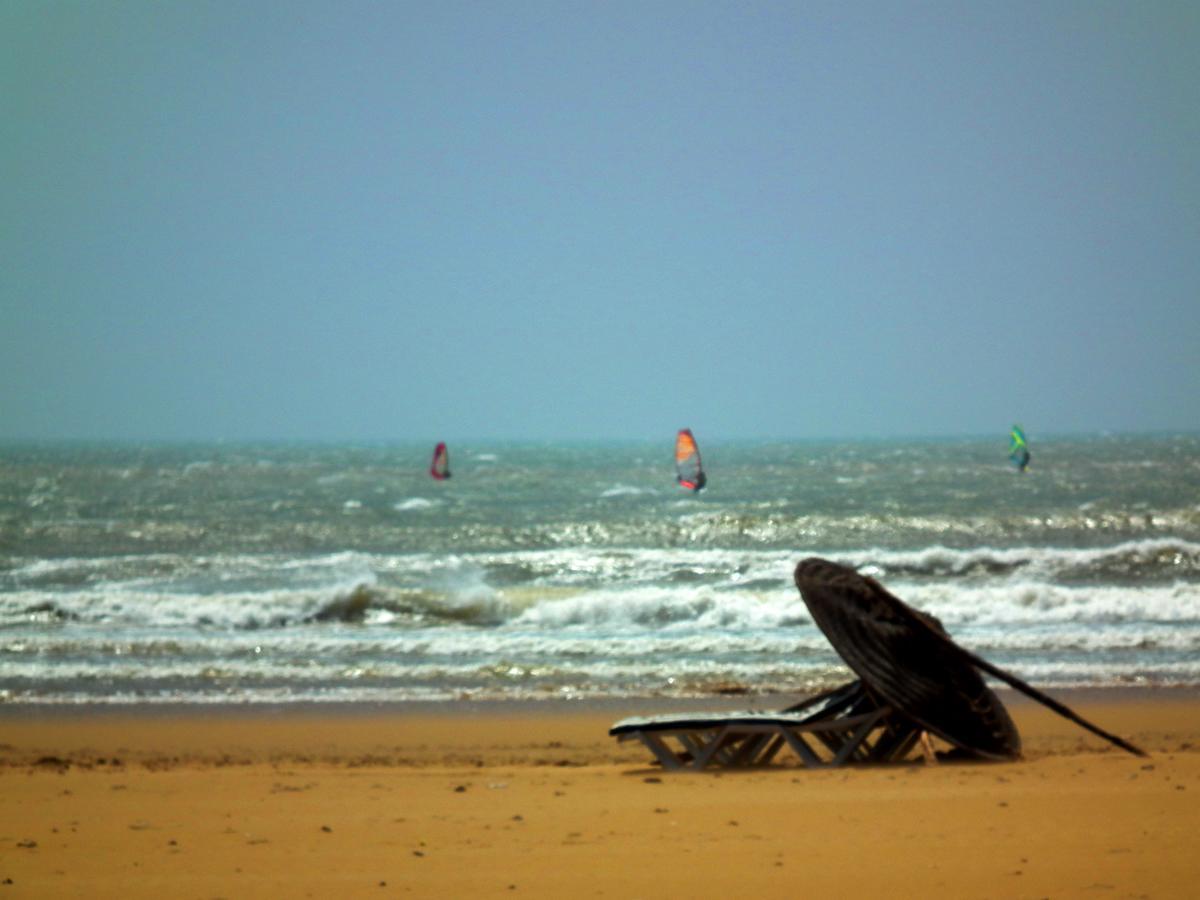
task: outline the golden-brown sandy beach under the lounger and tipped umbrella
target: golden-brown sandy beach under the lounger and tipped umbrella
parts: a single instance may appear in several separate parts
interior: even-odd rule
[[[1200,696],[1006,694],[1025,760],[670,775],[655,703],[4,712],[6,896],[1184,898]],[[766,707],[768,703],[756,703]],[[731,704],[727,708],[736,708]]]

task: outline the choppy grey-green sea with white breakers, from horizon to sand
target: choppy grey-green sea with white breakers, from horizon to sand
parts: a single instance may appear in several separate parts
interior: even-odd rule
[[[1043,686],[1200,684],[1200,437],[0,446],[0,702],[806,692],[824,556]],[[703,438],[702,438],[703,439]],[[432,442],[431,442],[432,444]]]

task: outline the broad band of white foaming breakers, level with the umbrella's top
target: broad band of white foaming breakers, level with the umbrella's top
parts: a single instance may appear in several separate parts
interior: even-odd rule
[[[859,560],[948,625],[1192,622],[1200,610],[1194,581],[1112,584],[1078,576],[1104,566],[1187,570],[1195,552],[1195,545],[1147,541],[1085,551],[866,551]],[[804,618],[791,584],[794,559],[778,551],[554,550],[24,560],[4,575],[13,587],[0,592],[0,622],[281,625],[320,614],[365,587],[374,612],[404,613],[419,602],[424,616],[480,624],[526,617],[547,626],[703,620],[757,628]]]

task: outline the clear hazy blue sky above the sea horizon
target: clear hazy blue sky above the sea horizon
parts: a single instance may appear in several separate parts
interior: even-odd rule
[[[1200,428],[1200,5],[0,0],[0,439]]]

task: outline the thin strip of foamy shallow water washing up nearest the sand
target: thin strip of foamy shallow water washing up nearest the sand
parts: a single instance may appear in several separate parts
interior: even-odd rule
[[[1192,684],[1194,659],[1112,667],[1087,659],[1031,662],[1022,677],[1049,688],[1073,685]],[[68,664],[49,678],[40,665],[7,666],[0,701],[22,702],[322,702],[451,698],[541,698],[550,696],[703,696],[728,685],[756,692],[803,695],[850,677],[836,661],[779,660],[773,664],[692,658],[577,660],[565,664],[464,661],[448,664],[322,664],[263,667],[247,661],[163,666],[148,674],[137,665]],[[101,682],[102,690],[84,685]],[[113,690],[110,685],[119,685]],[[997,685],[1000,686],[1000,685]],[[746,702],[754,707],[752,700]]]

